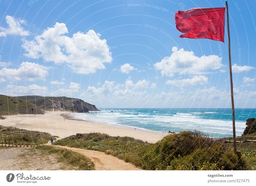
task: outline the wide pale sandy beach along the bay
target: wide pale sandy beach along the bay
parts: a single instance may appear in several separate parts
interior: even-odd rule
[[[60,138],[76,135],[76,133],[99,132],[110,136],[129,136],[149,143],[155,143],[167,133],[133,130],[129,128],[114,127],[108,124],[78,120],[69,116],[72,112],[52,111],[45,114],[24,114],[6,116],[0,120],[0,125],[12,126],[27,130],[49,132]]]

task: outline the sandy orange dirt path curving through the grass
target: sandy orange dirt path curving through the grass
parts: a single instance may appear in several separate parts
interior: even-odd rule
[[[51,145],[47,143],[47,145]],[[122,159],[118,159],[114,156],[105,154],[104,152],[100,151],[92,151],[92,150],[85,150],[67,146],[59,146],[54,145],[54,147],[69,149],[71,151],[75,151],[92,159],[95,164],[96,170],[141,170],[138,167],[135,167],[131,163],[126,163]]]

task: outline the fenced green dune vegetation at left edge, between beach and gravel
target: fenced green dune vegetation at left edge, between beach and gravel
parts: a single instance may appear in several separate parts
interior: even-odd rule
[[[50,141],[51,138],[56,138],[58,136],[52,136],[47,132],[31,132],[24,134],[13,134],[12,131],[27,131],[20,128],[15,127],[4,127],[0,125],[0,143],[8,144],[10,140],[10,144],[13,145],[38,145],[44,144]]]

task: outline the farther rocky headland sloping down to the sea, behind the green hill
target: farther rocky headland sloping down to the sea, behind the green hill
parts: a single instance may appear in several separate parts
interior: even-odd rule
[[[35,104],[44,111],[65,110],[71,112],[100,111],[95,105],[84,102],[82,99],[71,97],[42,97],[20,96],[19,98]]]

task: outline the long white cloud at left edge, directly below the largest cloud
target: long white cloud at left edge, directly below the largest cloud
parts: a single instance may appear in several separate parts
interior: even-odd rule
[[[10,80],[24,80],[35,81],[44,80],[45,76],[48,75],[50,67],[45,67],[36,63],[22,62],[18,69],[16,68],[2,68],[0,70],[0,76],[6,77]]]

